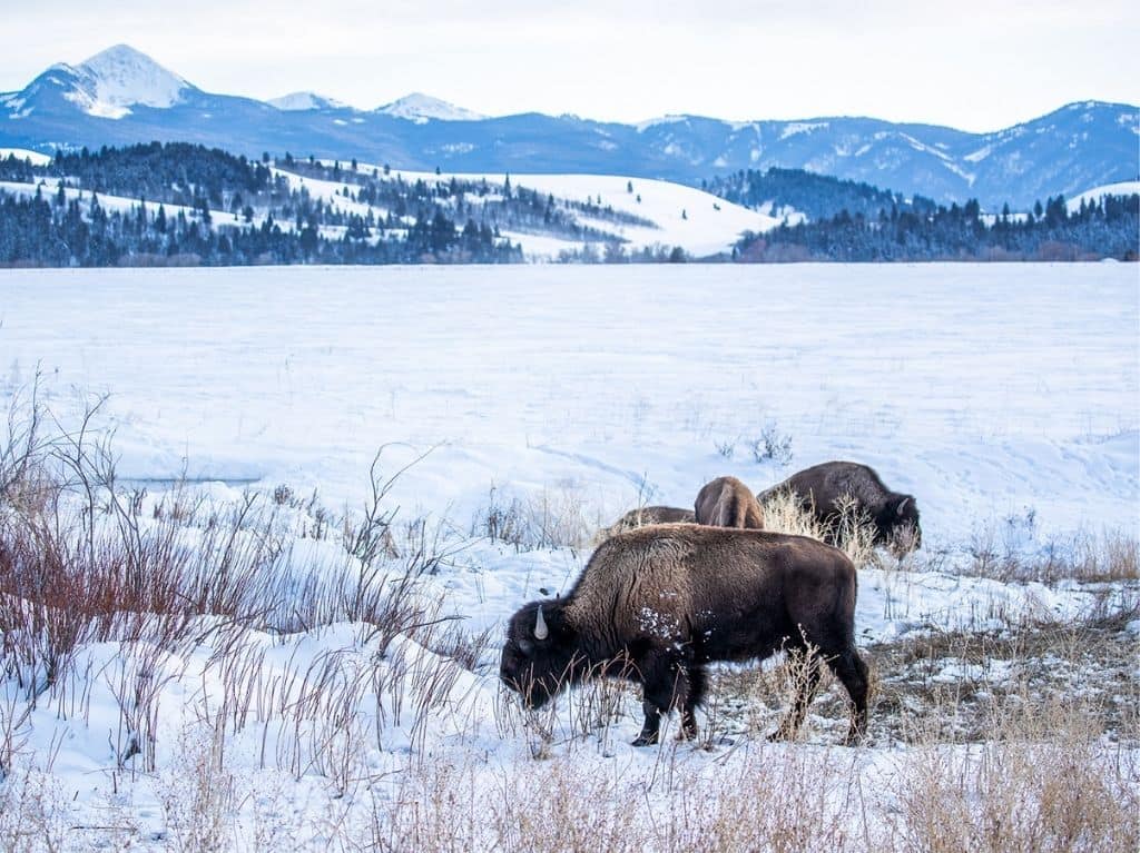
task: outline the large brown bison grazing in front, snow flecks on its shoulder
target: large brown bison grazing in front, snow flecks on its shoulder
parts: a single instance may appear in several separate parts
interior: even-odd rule
[[[645,723],[634,746],[658,740],[660,717],[681,711],[681,737],[712,661],[815,650],[854,705],[848,743],[866,729],[868,670],[855,650],[855,566],[806,536],[668,524],[603,542],[564,598],[532,601],[511,617],[503,683],[528,707],[592,678],[642,686]],[[806,667],[775,737],[807,713],[819,666]]]

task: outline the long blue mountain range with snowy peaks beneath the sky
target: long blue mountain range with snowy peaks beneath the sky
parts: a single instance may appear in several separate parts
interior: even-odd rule
[[[202,91],[117,46],[54,65],[0,95],[0,146],[57,148],[181,140],[408,170],[597,173],[700,184],[771,166],[988,210],[1134,180],[1138,108],[1083,101],[992,133],[865,117],[725,122],[666,116],[640,124],[527,113],[483,117],[413,95],[373,110],[300,93],[263,102]]]

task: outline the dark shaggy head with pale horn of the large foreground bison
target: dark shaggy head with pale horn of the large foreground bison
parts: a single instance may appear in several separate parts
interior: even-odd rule
[[[565,606],[535,601],[511,617],[499,679],[522,696],[528,707],[537,708],[581,678],[581,662]]]

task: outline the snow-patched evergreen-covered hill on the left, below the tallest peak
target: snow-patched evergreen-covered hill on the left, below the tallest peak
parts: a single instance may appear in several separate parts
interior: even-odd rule
[[[481,188],[341,172],[316,163],[306,170],[344,179],[344,200],[333,204],[275,173],[268,157],[258,163],[195,145],[60,153],[46,166],[8,157],[0,181],[38,187],[31,196],[0,189],[0,264],[507,263],[522,252],[499,222],[543,215],[530,197],[465,204],[463,194]],[[100,195],[138,200],[111,205]]]

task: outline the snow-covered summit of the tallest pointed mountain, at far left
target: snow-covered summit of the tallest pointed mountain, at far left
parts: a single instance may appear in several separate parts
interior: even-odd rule
[[[64,97],[89,115],[121,118],[130,107],[171,107],[192,88],[182,77],[128,44],[116,44],[74,67],[76,87]]]

